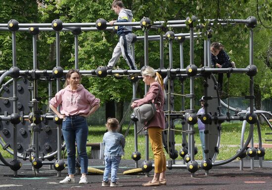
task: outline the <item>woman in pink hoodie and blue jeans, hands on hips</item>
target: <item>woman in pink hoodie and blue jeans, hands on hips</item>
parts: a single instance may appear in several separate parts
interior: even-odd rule
[[[68,175],[60,184],[75,183],[76,146],[80,157],[81,178],[79,184],[87,184],[88,156],[86,143],[88,126],[86,118],[100,107],[100,100],[95,98],[80,84],[81,75],[78,70],[71,69],[66,74],[64,88],[50,100],[50,108],[62,122],[62,133],[66,143]],[[60,112],[57,107],[60,106]]]

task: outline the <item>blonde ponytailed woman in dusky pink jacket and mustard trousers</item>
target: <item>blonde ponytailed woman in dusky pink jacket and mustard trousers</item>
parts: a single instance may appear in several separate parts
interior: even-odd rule
[[[142,104],[151,103],[156,100],[156,114],[154,118],[149,121],[147,126],[148,135],[154,154],[154,177],[151,181],[143,184],[143,186],[160,186],[166,185],[165,171],[166,171],[166,157],[163,151],[162,143],[162,130],[165,128],[165,116],[163,113],[164,105],[164,87],[163,81],[158,72],[146,66],[142,72],[142,80],[146,85],[150,85],[145,97],[136,100],[132,103],[131,107],[135,108]]]

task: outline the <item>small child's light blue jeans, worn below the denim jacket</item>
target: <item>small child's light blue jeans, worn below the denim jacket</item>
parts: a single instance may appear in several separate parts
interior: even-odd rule
[[[116,183],[117,181],[117,171],[119,168],[119,163],[121,161],[121,156],[105,156],[105,170],[103,181],[108,182],[108,176],[111,172],[111,179],[110,181]]]

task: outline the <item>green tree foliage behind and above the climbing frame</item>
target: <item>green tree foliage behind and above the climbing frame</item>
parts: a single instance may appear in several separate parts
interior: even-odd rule
[[[0,6],[1,22],[7,23],[10,19],[17,19],[20,23],[51,23],[59,18],[64,23],[94,23],[98,18],[107,21],[115,20],[117,15],[111,10],[112,0],[3,0]],[[239,68],[249,64],[249,29],[245,25],[228,24],[222,26],[217,19],[247,19],[248,16],[255,16],[258,25],[254,31],[254,63],[258,67],[258,74],[255,82],[260,84],[262,98],[271,98],[271,54],[268,53],[271,47],[271,18],[272,3],[268,0],[229,0],[229,1],[206,1],[198,0],[124,0],[126,8],[132,9],[134,18],[139,21],[143,16],[149,17],[152,21],[185,20],[186,17],[195,15],[197,21],[194,26],[201,25],[201,28],[194,28],[195,32],[206,33],[212,29],[211,41],[221,42],[232,61]],[[12,8],[11,8],[12,7]],[[210,26],[209,19],[215,19],[214,25]],[[166,23],[163,24],[166,27]],[[265,27],[266,26],[266,27]],[[188,33],[186,28],[173,28],[167,30],[175,33]],[[136,35],[143,36],[143,32],[134,31]],[[165,30],[149,30],[149,35],[158,35]],[[207,36],[204,36],[207,39]],[[263,40],[266,39],[266,40]],[[117,35],[110,31],[84,31],[79,35],[79,67],[80,69],[96,69],[100,65],[106,65],[112,56],[112,51],[118,41]],[[16,33],[17,63],[21,69],[32,68],[32,35],[27,32]],[[40,32],[37,42],[38,68],[51,69],[55,65],[55,32]],[[135,44],[136,64],[138,68],[144,65],[143,42]],[[179,43],[173,43],[173,67],[180,65]],[[168,42],[164,42],[164,67],[169,67]],[[60,32],[60,61],[65,69],[74,67],[74,35],[71,32]],[[159,43],[149,41],[149,65],[159,67]],[[183,43],[184,67],[189,64],[189,41]],[[194,63],[198,67],[203,66],[203,38],[195,39]],[[0,66],[2,69],[9,69],[12,63],[11,33],[0,32]],[[128,68],[124,59],[117,63],[120,68]],[[265,74],[263,74],[265,73]],[[125,78],[125,77],[124,77]],[[228,91],[227,77],[224,77],[224,91]],[[99,96],[102,102],[108,99],[115,101],[129,101],[132,97],[131,83],[126,79],[117,80],[113,77],[104,79],[85,78],[85,87]],[[185,93],[189,93],[189,82],[185,80]],[[200,97],[203,94],[203,81],[195,79],[195,94]],[[231,74],[229,79],[229,90],[231,95],[248,95],[249,77],[246,74]],[[177,86],[177,87],[176,87]],[[41,87],[41,96],[46,96],[46,85]],[[126,90],[124,90],[126,89]],[[179,82],[175,81],[175,93],[180,93]],[[104,93],[106,92],[106,93]],[[143,85],[139,85],[138,97],[142,97]],[[186,105],[188,105],[187,99]],[[45,101],[46,102],[46,101]],[[180,98],[175,99],[175,108],[180,108]]]

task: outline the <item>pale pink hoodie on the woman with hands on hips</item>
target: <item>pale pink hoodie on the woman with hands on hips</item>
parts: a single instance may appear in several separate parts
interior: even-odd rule
[[[76,91],[72,91],[69,85],[66,86],[49,101],[56,108],[60,105],[60,114],[65,116],[88,114],[99,102],[82,84]]]

